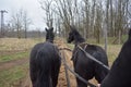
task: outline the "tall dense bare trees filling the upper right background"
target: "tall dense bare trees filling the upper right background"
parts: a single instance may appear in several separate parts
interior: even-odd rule
[[[55,26],[63,37],[68,36],[69,26],[75,25],[84,38],[99,42],[107,33],[121,44],[131,25],[130,0],[40,0],[39,3],[47,26]]]

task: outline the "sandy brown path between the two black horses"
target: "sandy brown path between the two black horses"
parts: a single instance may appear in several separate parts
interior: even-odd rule
[[[57,42],[59,48],[68,48],[67,45],[62,41]],[[72,53],[68,50],[62,50],[62,54],[64,54],[66,61],[68,63],[68,65],[73,69],[73,64],[71,61],[71,57]],[[68,72],[69,77],[70,77],[70,85],[71,87],[76,87],[76,82],[75,82],[75,77],[72,73]],[[58,87],[67,87],[67,79],[66,79],[66,70],[64,70],[64,65],[62,63],[61,69],[60,69],[60,73],[59,73],[59,79],[58,79]]]

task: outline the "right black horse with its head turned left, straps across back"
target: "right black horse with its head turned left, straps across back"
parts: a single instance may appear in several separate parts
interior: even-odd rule
[[[87,58],[78,46],[82,47],[86,52],[88,52],[98,61],[108,65],[108,59],[105,50],[99,46],[85,44],[85,39],[80,35],[75,27],[71,26],[68,42],[70,44],[72,41],[74,41],[75,45],[72,54],[74,71],[86,80],[92,79],[95,76],[97,82],[100,84],[105,76],[108,74],[108,70],[104,69],[102,65]],[[87,87],[87,85],[80,80],[78,77],[76,83],[78,87]]]

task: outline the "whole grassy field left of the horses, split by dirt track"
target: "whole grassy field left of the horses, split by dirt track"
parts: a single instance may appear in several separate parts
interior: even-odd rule
[[[43,41],[44,39],[39,38],[0,38],[0,63],[28,58],[29,50],[34,45]],[[14,87],[11,85],[19,84],[27,75],[27,72],[28,63],[0,71],[0,87]]]

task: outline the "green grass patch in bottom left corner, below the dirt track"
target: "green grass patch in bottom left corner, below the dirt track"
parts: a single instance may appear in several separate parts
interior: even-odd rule
[[[19,82],[20,79],[26,76],[25,70],[28,67],[28,64],[23,64],[15,66],[10,70],[0,72],[0,87],[12,87],[13,83]]]

